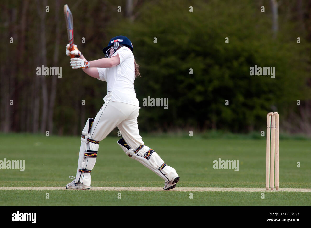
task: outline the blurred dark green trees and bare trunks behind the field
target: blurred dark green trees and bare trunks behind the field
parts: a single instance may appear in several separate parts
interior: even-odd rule
[[[103,105],[106,82],[69,66],[64,4],[88,60],[104,58],[116,35],[132,41],[141,132],[262,131],[276,111],[281,131],[311,135],[311,0],[3,0],[0,131],[78,135]],[[63,77],[37,76],[41,65]],[[276,67],[276,77],[250,76],[255,65]],[[143,107],[148,96],[169,108]]]

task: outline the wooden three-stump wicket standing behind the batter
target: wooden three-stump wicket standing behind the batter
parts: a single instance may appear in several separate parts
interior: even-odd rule
[[[270,126],[271,123],[271,126]],[[271,129],[271,137],[270,137]],[[274,188],[274,164],[275,164],[275,188],[279,190],[279,157],[280,157],[280,117],[277,112],[267,114],[267,132],[266,132],[266,189]],[[270,154],[271,138],[271,154]],[[270,170],[269,170],[270,169]],[[270,172],[269,172],[270,171]],[[270,186],[269,186],[270,176]]]

